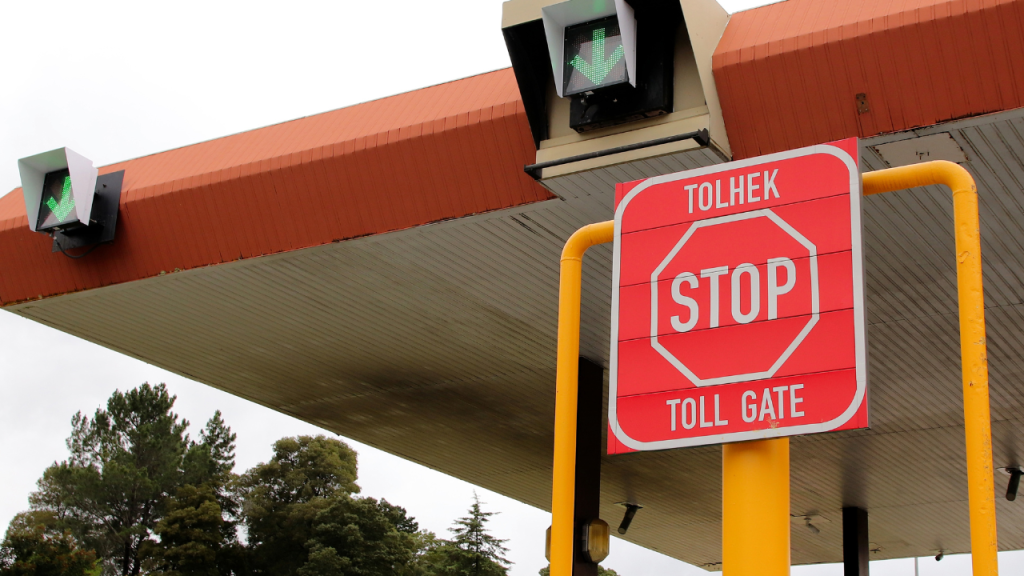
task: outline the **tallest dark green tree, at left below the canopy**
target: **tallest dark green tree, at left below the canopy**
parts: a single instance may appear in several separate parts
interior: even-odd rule
[[[237,542],[227,520],[238,509],[229,490],[234,435],[217,412],[190,441],[175,400],[164,384],[145,383],[114,393],[92,418],[76,414],[70,457],[48,467],[29,498],[56,533],[95,550],[105,574],[135,576],[151,565],[173,572],[178,560],[210,551],[204,547]],[[205,533],[211,526],[215,544]]]

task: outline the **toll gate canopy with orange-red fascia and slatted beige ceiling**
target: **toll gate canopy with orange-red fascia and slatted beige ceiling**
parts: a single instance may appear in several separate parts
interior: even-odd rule
[[[1022,29],[1024,0],[788,0],[733,14],[713,57],[733,159],[859,136],[863,170],[975,176],[996,467],[1024,464]],[[118,236],[80,260],[15,190],[0,304],[550,509],[559,253],[615,182],[727,160],[688,146],[542,186],[512,71],[482,74],[102,167],[125,171]],[[794,564],[842,560],[844,506],[872,560],[970,550],[951,200],[863,203],[870,428],[794,439]],[[607,367],[610,246],[583,290],[581,353]],[[721,448],[602,466],[602,518],[644,506],[626,539],[718,566]],[[1024,548],[1024,508],[997,513]]]

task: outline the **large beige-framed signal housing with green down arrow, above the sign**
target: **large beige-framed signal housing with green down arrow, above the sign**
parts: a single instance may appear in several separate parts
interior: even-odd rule
[[[728,18],[715,0],[505,2],[538,150],[527,173],[562,196],[584,182],[552,178],[705,149],[728,160],[711,63]]]

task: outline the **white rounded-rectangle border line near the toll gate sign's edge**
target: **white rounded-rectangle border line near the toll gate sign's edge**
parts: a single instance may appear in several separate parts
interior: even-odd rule
[[[857,140],[858,148],[860,146],[860,140]],[[788,426],[779,428],[766,428],[759,430],[748,430],[740,433],[728,433],[720,435],[710,435],[700,436],[694,438],[681,438],[676,440],[662,440],[655,442],[641,442],[634,440],[623,431],[622,426],[618,425],[618,418],[615,414],[615,409],[618,404],[617,396],[617,379],[618,379],[618,281],[620,281],[620,261],[621,261],[621,250],[622,250],[622,223],[623,214],[629,203],[636,198],[638,194],[644,190],[655,186],[667,182],[672,182],[676,180],[688,179],[698,176],[705,176],[708,174],[715,174],[718,172],[725,172],[729,170],[735,170],[737,168],[745,168],[748,166],[755,166],[759,164],[764,164],[766,162],[776,162],[779,160],[790,160],[794,158],[801,158],[804,156],[812,156],[815,154],[825,154],[828,156],[834,156],[846,164],[850,172],[850,233],[853,248],[853,324],[854,324],[854,347],[855,347],[855,364],[856,364],[856,377],[857,377],[857,392],[854,395],[853,402],[846,409],[845,412],[840,414],[838,417],[829,420],[827,422],[821,422],[818,424],[804,424],[801,426]],[[846,151],[830,145],[817,145],[807,148],[791,150],[786,152],[779,152],[775,154],[769,154],[765,156],[759,156],[756,158],[749,158],[746,160],[740,160],[737,162],[728,162],[725,164],[718,164],[715,166],[709,166],[707,168],[697,168],[695,170],[686,170],[684,172],[676,172],[674,174],[666,174],[664,176],[656,176],[653,178],[648,178],[638,184],[636,188],[630,191],[623,198],[623,201],[618,203],[618,207],[615,209],[615,232],[614,232],[614,244],[612,248],[612,266],[611,266],[611,330],[610,330],[610,354],[608,356],[608,423],[611,426],[612,435],[614,435],[615,440],[623,443],[623,445],[638,451],[649,451],[649,450],[668,450],[672,448],[689,448],[695,446],[710,446],[715,444],[724,444],[731,442],[743,442],[750,440],[764,440],[769,438],[782,438],[787,436],[798,436],[805,434],[816,434],[834,430],[853,417],[860,409],[861,404],[867,399],[867,333],[866,333],[866,319],[864,316],[864,254],[863,254],[863,244],[862,244],[862,231],[863,224],[861,221],[861,197],[863,196],[863,191],[861,189],[860,181],[860,170],[857,168],[857,163],[853,158],[847,154]],[[651,393],[659,394],[659,393]],[[609,439],[610,440],[610,439]]]

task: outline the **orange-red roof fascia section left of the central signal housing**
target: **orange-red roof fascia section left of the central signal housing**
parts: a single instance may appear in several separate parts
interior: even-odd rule
[[[117,239],[50,253],[20,190],[0,199],[0,304],[553,198],[501,70],[122,162]]]

